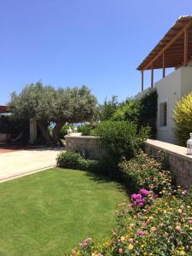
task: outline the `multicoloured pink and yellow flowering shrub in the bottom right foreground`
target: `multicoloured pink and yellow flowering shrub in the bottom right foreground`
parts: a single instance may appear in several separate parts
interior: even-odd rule
[[[191,193],[181,189],[175,193],[155,199],[140,212],[129,201],[119,204],[112,238],[79,246],[73,255],[191,255]]]

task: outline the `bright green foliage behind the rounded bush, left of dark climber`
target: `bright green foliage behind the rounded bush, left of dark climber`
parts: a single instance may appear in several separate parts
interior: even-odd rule
[[[119,104],[119,108],[113,113],[112,119],[115,121],[125,120],[139,123],[141,116],[141,103],[137,99],[128,99]]]

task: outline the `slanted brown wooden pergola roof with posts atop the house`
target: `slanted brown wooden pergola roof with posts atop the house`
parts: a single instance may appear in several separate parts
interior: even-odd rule
[[[145,70],[151,70],[153,87],[154,69],[162,68],[165,78],[166,67],[186,67],[189,61],[192,61],[192,16],[181,16],[137,67],[142,72],[142,91]]]

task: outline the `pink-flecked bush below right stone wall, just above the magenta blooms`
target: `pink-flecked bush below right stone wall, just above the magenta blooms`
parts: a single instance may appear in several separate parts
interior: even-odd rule
[[[172,177],[169,171],[164,171],[163,166],[144,154],[143,151],[131,160],[119,163],[123,182],[132,192],[145,188],[159,194],[162,190],[172,189]]]

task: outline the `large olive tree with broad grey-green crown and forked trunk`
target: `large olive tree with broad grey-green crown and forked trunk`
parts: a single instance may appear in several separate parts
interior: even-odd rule
[[[38,127],[46,143],[58,143],[62,125],[91,121],[96,113],[96,96],[83,85],[81,88],[59,88],[41,82],[27,84],[25,88],[11,95],[10,110],[15,117],[37,119]],[[54,123],[53,135],[49,125]]]

